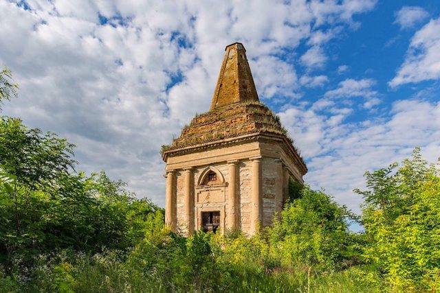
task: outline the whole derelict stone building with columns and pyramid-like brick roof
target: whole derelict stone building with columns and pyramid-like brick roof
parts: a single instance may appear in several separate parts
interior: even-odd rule
[[[165,221],[173,231],[252,235],[283,209],[307,167],[278,117],[259,102],[241,43],[225,49],[210,110],[162,148]]]

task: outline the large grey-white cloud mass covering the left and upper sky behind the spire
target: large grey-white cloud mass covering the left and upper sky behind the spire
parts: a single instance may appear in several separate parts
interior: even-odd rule
[[[289,62],[296,56],[280,54],[305,43],[304,64],[322,64],[327,57],[319,46],[374,5],[0,1],[0,63],[20,85],[19,99],[4,113],[76,143],[80,169],[105,169],[164,204],[160,146],[208,110],[225,45],[244,43],[262,99],[298,97]],[[318,86],[325,78],[303,82]]]

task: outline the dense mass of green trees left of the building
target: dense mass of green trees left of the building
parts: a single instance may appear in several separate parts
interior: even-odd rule
[[[104,172],[74,172],[65,139],[11,118],[0,120],[0,134],[0,263],[66,248],[125,249],[148,232],[151,213],[160,217]]]

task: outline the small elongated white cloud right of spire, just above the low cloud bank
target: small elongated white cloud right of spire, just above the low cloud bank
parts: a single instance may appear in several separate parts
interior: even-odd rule
[[[353,80],[351,78],[344,80],[338,84],[338,88],[325,93],[325,97],[374,97],[377,91],[371,89],[376,84],[371,78],[362,80]]]

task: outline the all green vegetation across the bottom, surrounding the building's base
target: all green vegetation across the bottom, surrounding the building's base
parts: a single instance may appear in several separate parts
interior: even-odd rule
[[[0,292],[440,291],[439,167],[419,149],[366,172],[360,217],[292,180],[253,237],[176,235],[162,209],[105,172],[76,171],[73,154],[0,119]],[[357,220],[363,233],[349,231]]]

